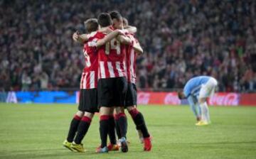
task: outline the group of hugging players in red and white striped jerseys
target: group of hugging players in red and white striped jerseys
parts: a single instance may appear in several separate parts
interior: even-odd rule
[[[118,11],[100,13],[85,21],[87,34],[73,34],[73,40],[83,43],[85,68],[80,80],[78,112],[70,124],[63,146],[85,152],[82,139],[90,127],[95,112],[100,112],[101,144],[97,153],[109,150],[128,151],[127,109],[136,125],[144,150],[151,150],[151,136],[144,117],[137,109],[136,57],[143,53],[137,38],[137,28],[128,25]],[[118,141],[116,138],[116,133]],[[107,145],[107,136],[110,143]]]

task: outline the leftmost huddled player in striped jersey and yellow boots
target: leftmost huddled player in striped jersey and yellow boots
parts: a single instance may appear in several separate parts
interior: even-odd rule
[[[89,34],[87,34],[87,43],[84,45],[83,53],[85,55],[85,68],[82,72],[80,81],[80,102],[78,106],[78,112],[71,121],[70,130],[68,132],[68,138],[64,141],[63,146],[70,150],[76,150],[78,152],[85,152],[82,146],[82,138],[84,138],[87,130],[90,126],[90,122],[97,109],[97,70],[98,70],[98,58],[95,47],[105,45],[108,41],[115,38],[122,33],[119,30],[112,31],[112,33],[105,36],[101,40],[95,41],[95,35],[99,25],[97,19],[90,18],[85,21],[85,28]],[[74,40],[80,40],[79,36]],[[75,135],[76,133],[76,135]]]

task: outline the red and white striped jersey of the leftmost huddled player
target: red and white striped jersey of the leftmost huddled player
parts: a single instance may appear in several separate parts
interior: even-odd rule
[[[88,35],[88,41],[85,43],[83,53],[85,55],[85,67],[82,71],[80,80],[80,89],[94,89],[97,88],[97,69],[98,57],[95,48],[95,35],[97,32],[92,32]]]

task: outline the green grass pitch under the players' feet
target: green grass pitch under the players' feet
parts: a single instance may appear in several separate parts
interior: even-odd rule
[[[256,158],[256,107],[210,107],[212,124],[197,127],[188,106],[139,106],[153,140],[143,152],[129,117],[128,153],[96,154],[98,116],[83,140],[86,153],[63,148],[77,106],[0,103],[0,158]]]

